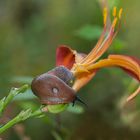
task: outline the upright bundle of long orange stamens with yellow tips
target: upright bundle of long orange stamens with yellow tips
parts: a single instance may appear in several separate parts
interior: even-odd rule
[[[99,59],[104,52],[110,47],[113,39],[115,38],[118,29],[120,27],[120,18],[121,18],[122,9],[119,10],[119,18],[114,16],[114,20],[112,22],[112,25],[109,28],[109,32],[106,30],[106,16],[107,11],[105,10],[104,13],[104,30],[100,36],[99,41],[97,42],[96,46],[92,49],[92,51],[85,57],[85,59],[81,62],[81,64],[91,64],[94,63],[97,59]],[[118,23],[118,29],[115,31],[115,26]],[[107,33],[107,36],[106,36]]]

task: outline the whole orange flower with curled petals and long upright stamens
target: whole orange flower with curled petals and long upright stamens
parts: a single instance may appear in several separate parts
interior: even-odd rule
[[[122,9],[119,10],[117,15],[117,10],[115,7],[113,10],[114,19],[109,31],[107,31],[106,20],[108,14],[107,9],[104,9],[103,32],[96,46],[88,55],[77,53],[75,50],[72,50],[70,47],[65,45],[61,45],[57,48],[56,65],[64,65],[74,74],[76,80],[72,88],[75,91],[78,91],[81,87],[86,85],[96,75],[99,69],[111,66],[123,69],[125,72],[140,82],[140,59],[138,58],[113,54],[109,55],[106,59],[97,61],[109,48],[113,39],[115,38],[118,28],[120,27],[121,15]],[[127,101],[133,99],[138,93],[140,93],[140,85],[138,89],[127,98]]]

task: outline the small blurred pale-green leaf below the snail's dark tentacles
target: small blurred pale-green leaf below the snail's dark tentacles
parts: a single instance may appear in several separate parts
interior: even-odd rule
[[[74,106],[69,105],[67,108],[67,111],[69,111],[71,113],[81,114],[84,112],[84,108],[79,105],[74,105]]]

